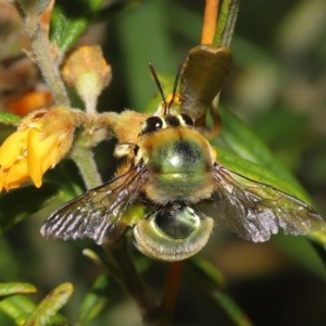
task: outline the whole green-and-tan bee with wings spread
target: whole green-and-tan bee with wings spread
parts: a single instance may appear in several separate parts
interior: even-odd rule
[[[117,143],[116,154],[126,160],[115,178],[54,212],[41,227],[43,236],[88,237],[102,244],[131,228],[141,253],[174,262],[206,244],[217,217],[254,242],[268,240],[279,229],[301,235],[324,227],[321,215],[303,201],[218,163],[188,114],[191,110],[181,105],[173,111],[175,96],[167,102],[160,91],[163,103],[143,121],[137,139]],[[193,103],[189,96],[187,101]]]

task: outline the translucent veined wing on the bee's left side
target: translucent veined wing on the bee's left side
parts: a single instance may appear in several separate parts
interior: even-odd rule
[[[136,167],[60,208],[43,223],[42,236],[64,240],[88,237],[98,244],[106,233],[112,240],[117,239],[127,226],[121,223],[122,216],[146,181],[146,170]]]

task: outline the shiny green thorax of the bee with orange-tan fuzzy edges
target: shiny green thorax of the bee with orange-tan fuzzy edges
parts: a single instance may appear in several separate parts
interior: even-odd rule
[[[198,202],[213,191],[213,150],[196,130],[163,129],[145,137],[139,155],[149,172],[145,193],[160,204]]]

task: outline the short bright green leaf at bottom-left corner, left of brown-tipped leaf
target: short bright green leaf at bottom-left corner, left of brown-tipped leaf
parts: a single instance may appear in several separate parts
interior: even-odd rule
[[[16,325],[25,325],[35,304],[25,296],[11,296],[0,301],[0,310],[15,321]]]

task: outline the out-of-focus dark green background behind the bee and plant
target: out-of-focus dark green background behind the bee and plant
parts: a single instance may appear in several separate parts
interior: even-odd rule
[[[78,1],[72,2],[78,5]],[[101,20],[80,40],[100,42],[112,65],[113,82],[100,98],[100,110],[143,110],[156,95],[148,63],[162,78],[173,77],[178,62],[200,41],[203,8],[203,1],[198,0],[118,1],[113,5],[106,1]],[[298,177],[324,216],[325,30],[325,0],[242,1],[231,42],[234,65],[221,97],[223,105],[244,121]],[[115,166],[110,151],[111,142],[97,149],[105,178]],[[63,173],[82,188],[70,162],[47,177],[51,180]],[[65,188],[68,178],[62,180]],[[39,292],[33,297],[35,300],[58,284],[72,281],[75,292],[65,313],[74,321],[101,269],[82,254],[85,247],[96,249],[91,241],[52,241],[39,235],[42,221],[62,201],[64,198],[57,199],[0,238],[0,280],[36,285]],[[318,256],[304,238],[280,235],[256,244],[238,239],[218,224],[214,239],[200,255],[223,273],[223,290],[253,325],[326,325],[325,253]],[[159,293],[164,271],[164,264],[153,263],[146,273],[146,279]],[[174,325],[235,325],[216,302],[204,296],[201,285],[192,281],[192,272],[186,268]],[[110,306],[89,325],[139,325],[130,300],[114,283],[110,289],[105,302]],[[0,313],[0,325],[10,323]]]

